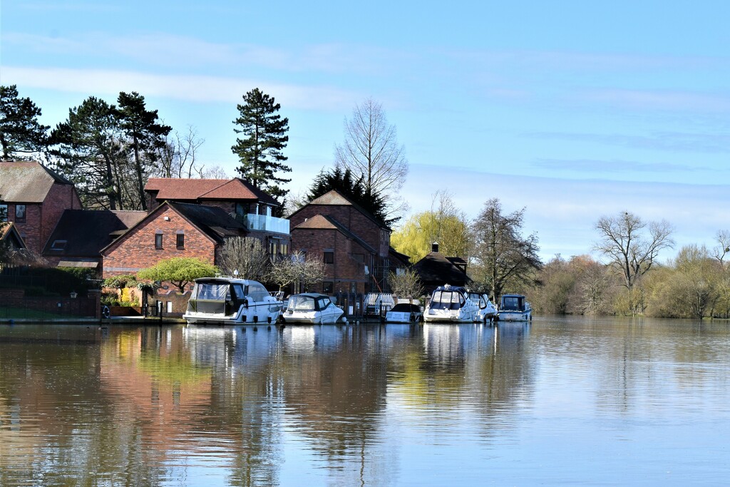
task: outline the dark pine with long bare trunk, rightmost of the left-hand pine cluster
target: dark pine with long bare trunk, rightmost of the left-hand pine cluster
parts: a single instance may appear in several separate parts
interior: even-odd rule
[[[158,123],[157,110],[147,110],[145,97],[137,92],[119,93],[119,104],[115,115],[120,129],[128,138],[134,162],[134,175],[137,185],[139,207],[147,210],[145,201],[145,183],[149,173],[157,161],[157,150],[164,147],[167,134],[172,127]],[[144,161],[142,160],[144,158]]]

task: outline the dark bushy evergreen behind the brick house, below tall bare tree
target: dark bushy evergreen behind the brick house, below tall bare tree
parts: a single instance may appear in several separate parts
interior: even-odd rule
[[[388,219],[383,197],[379,193],[368,191],[362,176],[356,179],[349,168],[343,169],[341,166],[336,166],[330,171],[322,169],[312,182],[307,198],[312,201],[312,199],[319,198],[333,189],[339,191],[342,196],[347,197],[353,203],[358,204],[363,210],[372,213],[377,220],[386,226],[391,226],[399,219]]]

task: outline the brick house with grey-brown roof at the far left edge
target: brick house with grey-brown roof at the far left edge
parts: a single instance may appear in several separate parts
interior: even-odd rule
[[[0,161],[0,207],[26,248],[41,255],[63,212],[82,205],[73,183],[42,164]]]

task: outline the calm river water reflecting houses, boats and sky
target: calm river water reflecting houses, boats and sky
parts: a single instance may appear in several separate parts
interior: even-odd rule
[[[0,326],[0,486],[730,481],[730,325]]]

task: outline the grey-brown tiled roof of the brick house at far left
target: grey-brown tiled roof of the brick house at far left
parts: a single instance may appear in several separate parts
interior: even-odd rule
[[[42,203],[53,184],[72,183],[32,161],[0,161],[0,198],[11,203]]]

